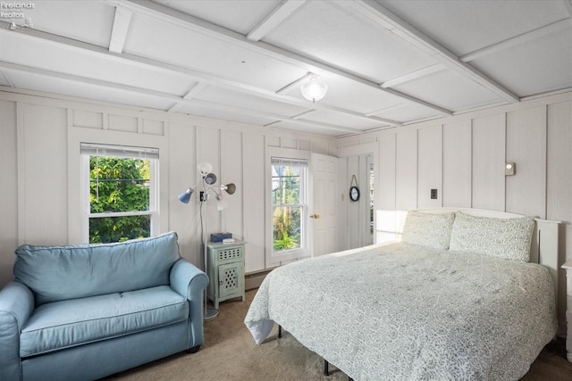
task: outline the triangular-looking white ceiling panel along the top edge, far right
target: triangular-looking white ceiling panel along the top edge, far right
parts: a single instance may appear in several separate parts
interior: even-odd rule
[[[458,55],[570,16],[563,1],[391,0],[381,4]]]

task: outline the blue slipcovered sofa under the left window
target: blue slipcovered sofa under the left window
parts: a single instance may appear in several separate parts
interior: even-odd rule
[[[208,277],[175,233],[16,255],[0,292],[0,380],[97,379],[203,343]]]

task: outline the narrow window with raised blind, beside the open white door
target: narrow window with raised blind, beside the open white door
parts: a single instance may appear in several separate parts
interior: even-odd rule
[[[272,158],[273,254],[307,249],[307,161]]]

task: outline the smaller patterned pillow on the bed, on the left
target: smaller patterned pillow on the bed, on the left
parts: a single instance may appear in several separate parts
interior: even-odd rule
[[[408,211],[401,242],[447,250],[454,219],[455,213],[452,212],[433,214]]]

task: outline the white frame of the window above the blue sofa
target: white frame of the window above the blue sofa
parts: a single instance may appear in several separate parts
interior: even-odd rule
[[[110,211],[92,213],[89,203],[89,158],[98,153],[100,156],[122,157],[149,160],[149,209],[147,211]],[[159,227],[159,150],[157,148],[136,147],[128,145],[80,144],[81,154],[81,240],[89,242],[89,219],[99,217],[151,216],[150,236],[157,236]]]

